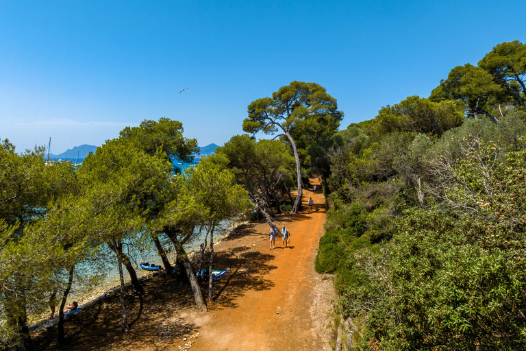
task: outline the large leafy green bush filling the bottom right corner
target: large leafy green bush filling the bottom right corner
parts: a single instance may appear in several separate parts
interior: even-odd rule
[[[377,296],[369,337],[384,350],[524,346],[526,261],[509,229],[415,211],[398,230],[381,283],[386,298]]]

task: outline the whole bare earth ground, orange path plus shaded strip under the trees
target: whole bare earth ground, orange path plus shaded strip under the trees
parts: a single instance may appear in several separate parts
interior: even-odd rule
[[[316,183],[314,183],[316,184]],[[312,213],[307,202],[314,200]],[[144,298],[127,296],[131,332],[118,332],[120,306],[114,298],[68,322],[68,345],[58,348],[53,329],[36,335],[39,350],[331,350],[328,276],[316,274],[314,258],[323,235],[323,195],[304,191],[300,215],[281,215],[290,245],[268,250],[266,223],[250,223],[215,247],[214,267],[229,273],[214,285],[215,302],[198,312],[187,289],[162,277],[147,281]],[[203,291],[205,291],[203,285]],[[76,327],[76,329],[75,329]],[[186,338],[186,340],[184,340]]]

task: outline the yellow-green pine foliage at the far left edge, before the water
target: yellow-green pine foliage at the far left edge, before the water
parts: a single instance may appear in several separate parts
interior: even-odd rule
[[[53,202],[78,193],[73,166],[46,165],[43,151],[17,154],[9,141],[0,143],[0,334],[21,348],[31,347],[28,315],[47,306],[50,291],[61,286],[62,267],[87,255],[68,218],[52,220]]]

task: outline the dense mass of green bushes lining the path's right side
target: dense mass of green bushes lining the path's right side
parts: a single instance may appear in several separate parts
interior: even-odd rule
[[[506,112],[332,152],[315,264],[363,322],[358,349],[526,349],[526,123]]]

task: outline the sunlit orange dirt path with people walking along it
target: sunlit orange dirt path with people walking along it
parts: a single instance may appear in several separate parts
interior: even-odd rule
[[[308,213],[309,197],[315,203],[312,213]],[[255,244],[259,254],[254,256],[260,260],[255,259],[252,265],[245,261],[249,267],[239,269],[260,279],[261,285],[237,296],[223,291],[210,317],[203,321],[203,332],[195,342],[197,350],[329,350],[317,315],[324,312],[316,306],[323,303],[318,299],[323,291],[316,287],[324,282],[330,286],[330,280],[322,280],[314,272],[325,222],[322,197],[305,191],[302,214],[276,221],[280,228],[285,225],[290,230],[288,248],[281,248],[281,238],[277,238],[277,248],[268,250],[268,226],[258,226],[245,235],[245,245]],[[225,303],[229,308],[223,307]]]

